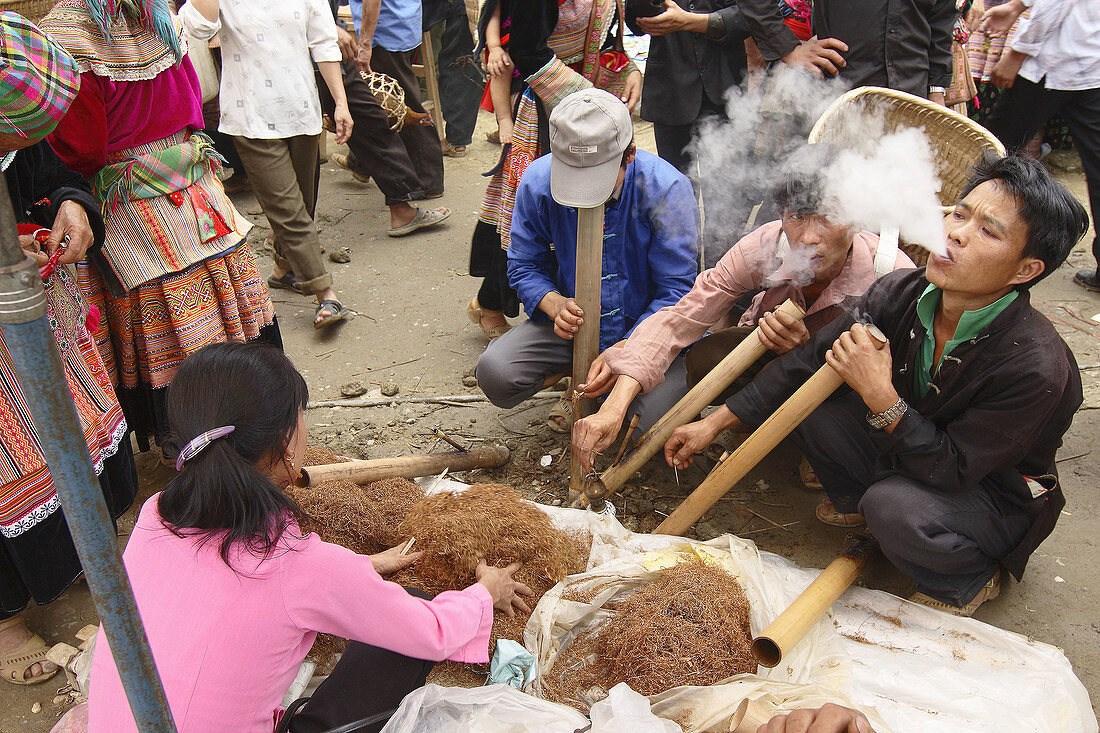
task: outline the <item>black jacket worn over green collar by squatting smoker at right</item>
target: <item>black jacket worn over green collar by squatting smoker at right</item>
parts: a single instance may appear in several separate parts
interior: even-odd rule
[[[868,427],[880,451],[877,480],[902,474],[944,492],[980,484],[1004,511],[1033,515],[1026,537],[1002,560],[1019,579],[1066,504],[1054,457],[1082,402],[1080,372],[1069,347],[1022,292],[943,360],[933,389],[915,400],[911,370],[926,338],[916,300],[927,285],[924,269],[898,271],[875,283],[858,304],[890,339],[893,385],[910,404],[893,433]],[[853,322],[851,315],[840,316],[772,362],[726,405],[759,425],[825,363],[825,351]],[[1032,499],[1023,477],[1045,477],[1054,488]]]

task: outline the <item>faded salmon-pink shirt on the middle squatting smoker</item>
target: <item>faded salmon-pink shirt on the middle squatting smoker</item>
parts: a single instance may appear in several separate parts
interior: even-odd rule
[[[664,372],[676,354],[706,331],[734,325],[755,326],[763,315],[760,304],[765,293],[752,299],[752,305],[737,324],[730,318],[730,309],[746,293],[767,287],[767,280],[776,270],[776,247],[781,229],[779,221],[772,221],[743,237],[714,267],[700,273],[695,285],[679,303],[666,306],[641,321],[622,348],[606,351],[605,359],[610,370],[632,376],[638,380],[642,392],[649,392],[664,381]],[[822,291],[806,315],[837,305],[846,297],[866,293],[875,282],[875,253],[878,249],[878,234],[857,232],[844,269]],[[913,261],[898,250],[894,270],[913,266]]]

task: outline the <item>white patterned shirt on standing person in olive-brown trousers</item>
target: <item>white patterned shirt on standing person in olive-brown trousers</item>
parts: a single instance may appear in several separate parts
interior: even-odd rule
[[[221,0],[216,22],[186,3],[179,20],[199,41],[221,32],[221,132],[262,140],[321,132],[310,59],[340,62],[324,0]]]

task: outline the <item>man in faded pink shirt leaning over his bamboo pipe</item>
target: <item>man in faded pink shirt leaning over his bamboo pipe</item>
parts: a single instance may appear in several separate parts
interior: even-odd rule
[[[573,428],[573,450],[585,470],[592,468],[593,453],[618,435],[630,402],[666,379],[675,379],[679,361],[684,362],[688,383],[694,385],[759,326],[760,340],[771,353],[734,381],[721,397],[725,401],[767,361],[805,343],[839,316],[843,304],[867,292],[878,275],[913,267],[897,240],[880,240],[826,216],[825,172],[837,153],[832,145],[814,144],[791,155],[772,193],[780,220],[744,237],[695,278],[679,303],[647,318],[626,341],[593,363],[580,386],[586,396],[610,394],[595,415],[578,420]],[[736,313],[741,296],[755,292],[749,308]],[[776,311],[788,298],[806,310],[804,321]],[[708,329],[714,332],[703,337]],[[686,358],[678,360],[681,351]]]

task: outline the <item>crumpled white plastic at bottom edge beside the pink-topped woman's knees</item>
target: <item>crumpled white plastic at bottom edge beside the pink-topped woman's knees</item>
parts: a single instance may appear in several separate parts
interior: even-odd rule
[[[574,733],[588,719],[507,685],[468,690],[428,685],[410,692],[382,733]]]

